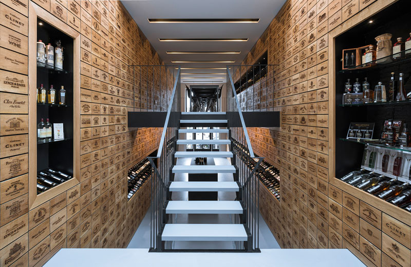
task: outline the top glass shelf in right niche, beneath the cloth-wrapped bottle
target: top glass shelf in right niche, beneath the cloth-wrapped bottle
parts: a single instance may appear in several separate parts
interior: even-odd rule
[[[408,52],[408,53],[406,54],[406,52]],[[401,58],[401,59],[400,58],[398,58],[398,59],[393,58],[394,55],[400,55],[401,53],[404,54],[403,58]],[[387,61],[387,62],[381,62],[381,61]],[[395,65],[398,65],[398,64],[406,63],[408,61],[411,61],[411,49],[404,50],[400,53],[391,54],[391,55],[385,56],[384,58],[381,58],[381,59],[378,59],[378,60],[375,60],[375,61],[371,61],[371,62],[368,62],[366,64],[352,66],[350,68],[340,70],[339,73],[353,72],[353,71],[355,71],[355,72],[368,71],[368,70],[373,70],[373,69],[379,69],[379,68],[395,66]]]

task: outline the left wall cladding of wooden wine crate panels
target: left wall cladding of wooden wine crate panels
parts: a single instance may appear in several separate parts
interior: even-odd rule
[[[29,207],[32,2],[0,2],[0,266],[41,266],[62,247],[126,247],[150,206],[150,182],[127,202],[127,170],[157,149],[162,130],[128,129],[127,111],[160,110],[167,96],[147,90],[156,73],[134,85],[128,65],[161,59],[119,1],[33,1],[81,34],[81,170],[79,184]]]

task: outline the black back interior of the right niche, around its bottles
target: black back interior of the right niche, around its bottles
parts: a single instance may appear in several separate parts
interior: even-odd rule
[[[398,82],[399,73],[404,73],[405,91],[411,91],[410,67],[411,54],[403,60],[393,61],[389,64],[377,64],[369,68],[342,70],[343,49],[362,47],[366,45],[376,46],[375,37],[390,33],[393,35],[391,42],[397,42],[397,37],[402,37],[403,42],[411,32],[408,21],[411,15],[411,3],[409,0],[400,0],[379,13],[368,18],[359,25],[346,31],[335,39],[335,176],[341,178],[349,171],[361,166],[364,145],[354,142],[346,142],[339,138],[346,138],[350,122],[375,122],[373,139],[381,137],[382,124],[387,119],[404,120],[411,126],[411,102],[390,102],[385,105],[359,105],[342,106],[344,84],[347,79],[351,83],[359,78],[360,83],[367,78],[372,90],[378,82],[382,82],[388,89],[391,72],[395,72]],[[331,89],[331,88],[330,88]]]

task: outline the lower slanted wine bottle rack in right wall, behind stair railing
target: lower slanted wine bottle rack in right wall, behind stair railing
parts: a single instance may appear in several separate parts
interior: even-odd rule
[[[254,169],[257,159],[251,159],[247,147],[241,143],[233,140],[233,145],[235,150],[242,150],[239,154],[239,158],[244,162],[251,170]],[[255,157],[259,157],[254,153]],[[280,190],[279,190],[279,170],[271,165],[266,160],[260,162],[260,168],[256,171],[258,179],[263,183],[271,194],[279,200]]]

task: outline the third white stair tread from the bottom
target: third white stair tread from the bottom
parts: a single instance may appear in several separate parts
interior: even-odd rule
[[[171,182],[170,192],[238,192],[236,182]]]

